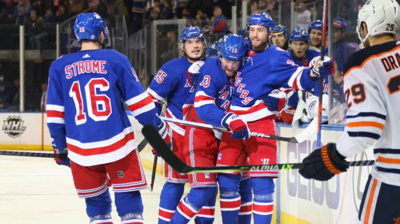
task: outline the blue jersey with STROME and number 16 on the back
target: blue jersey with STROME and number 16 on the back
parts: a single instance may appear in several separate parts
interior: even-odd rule
[[[47,126],[56,147],[84,166],[104,164],[136,148],[121,99],[142,124],[157,126],[155,106],[127,57],[115,50],[81,50],[49,69]]]

